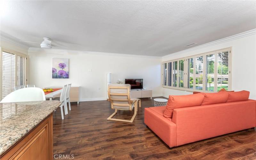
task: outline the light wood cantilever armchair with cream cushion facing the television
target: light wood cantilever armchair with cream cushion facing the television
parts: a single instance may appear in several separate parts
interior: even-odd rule
[[[109,84],[108,85],[108,100],[111,102],[111,108],[115,109],[115,112],[107,118],[107,120],[123,121],[132,123],[137,111],[138,100],[131,99],[131,85],[130,84]],[[134,108],[134,114],[131,120],[123,120],[112,118],[117,113],[117,110],[130,110]]]

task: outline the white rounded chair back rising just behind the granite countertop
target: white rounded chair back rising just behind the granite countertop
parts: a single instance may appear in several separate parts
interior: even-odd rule
[[[45,100],[44,91],[41,88],[21,88],[11,92],[0,103],[28,102]]]

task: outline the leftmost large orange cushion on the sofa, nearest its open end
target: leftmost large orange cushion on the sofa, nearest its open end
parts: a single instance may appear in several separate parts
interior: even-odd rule
[[[167,102],[163,116],[172,118],[173,109],[200,106],[203,100],[204,95],[202,94],[189,94],[181,96],[169,95],[169,100]]]

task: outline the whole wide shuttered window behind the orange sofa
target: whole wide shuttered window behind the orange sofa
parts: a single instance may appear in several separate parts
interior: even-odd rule
[[[168,75],[163,86],[199,92],[217,92],[221,88],[231,90],[230,61],[231,48],[226,48],[163,62],[166,65],[163,73]]]

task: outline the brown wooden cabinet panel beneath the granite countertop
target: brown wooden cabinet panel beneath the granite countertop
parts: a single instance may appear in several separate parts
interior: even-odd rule
[[[52,114],[1,155],[1,160],[52,160]]]

